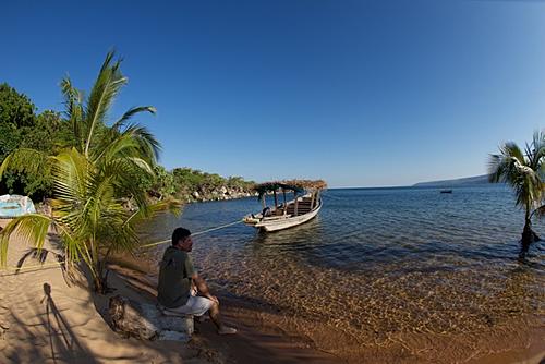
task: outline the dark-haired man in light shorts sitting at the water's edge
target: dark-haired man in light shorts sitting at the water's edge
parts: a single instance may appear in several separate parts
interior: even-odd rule
[[[193,262],[187,254],[192,247],[190,230],[174,229],[172,246],[165,251],[159,270],[157,300],[161,308],[166,314],[174,315],[203,316],[209,312],[218,333],[235,333],[237,329],[221,324],[218,299],[210,294],[205,280],[193,268]],[[196,290],[193,287],[196,287]]]

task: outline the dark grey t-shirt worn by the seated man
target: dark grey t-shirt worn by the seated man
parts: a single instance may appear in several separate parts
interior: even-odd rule
[[[166,307],[183,306],[191,294],[191,276],[195,272],[186,252],[169,246],[159,268],[157,300]]]

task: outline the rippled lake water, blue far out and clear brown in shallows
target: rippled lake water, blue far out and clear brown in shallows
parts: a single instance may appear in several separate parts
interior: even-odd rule
[[[508,187],[328,190],[323,202],[317,218],[293,229],[261,233],[241,223],[195,236],[194,262],[226,294],[276,307],[286,325],[340,356],[425,335],[459,342],[459,356],[448,357],[464,360],[483,332],[544,317],[545,244],[520,255],[523,213]],[[259,210],[256,198],[192,204],[143,227],[143,238]],[[534,229],[545,235],[543,222]],[[404,347],[425,347],[411,342]],[[449,361],[429,350],[428,360]]]

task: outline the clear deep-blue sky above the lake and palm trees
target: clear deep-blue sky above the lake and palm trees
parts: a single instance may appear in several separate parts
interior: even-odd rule
[[[10,1],[0,82],[62,110],[106,52],[167,168],[407,185],[486,171],[545,124],[541,1]]]

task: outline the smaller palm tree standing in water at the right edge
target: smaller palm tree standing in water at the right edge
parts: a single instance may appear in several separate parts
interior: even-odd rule
[[[540,238],[532,230],[532,217],[541,214],[545,197],[545,133],[535,132],[524,151],[513,142],[505,143],[498,155],[491,155],[488,172],[491,182],[506,182],[514,191],[516,205],[524,209],[522,244],[528,246]]]

